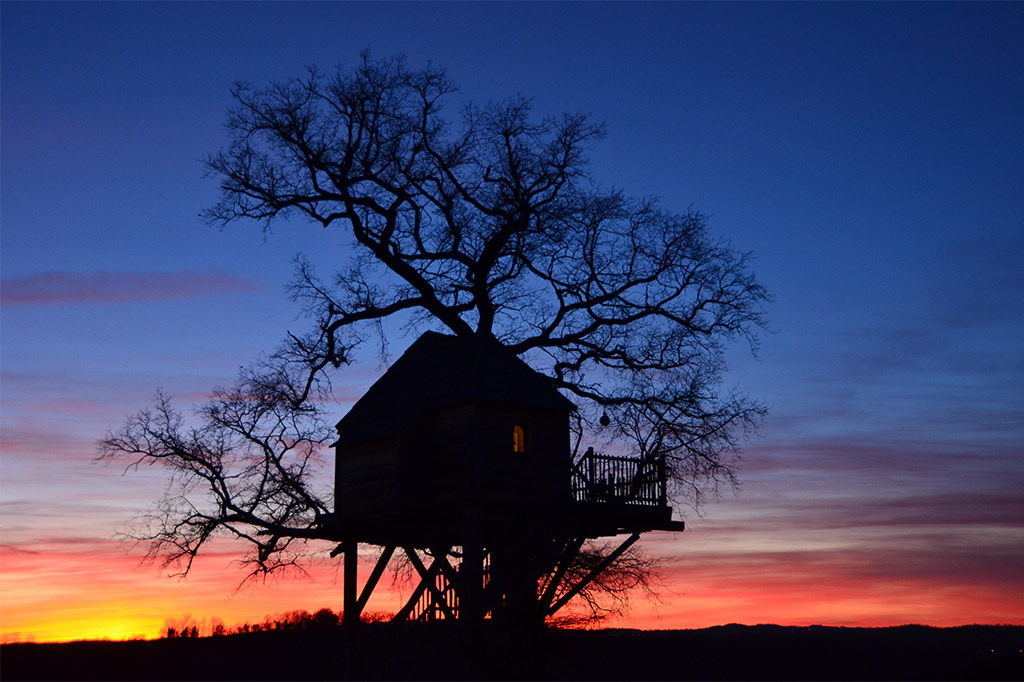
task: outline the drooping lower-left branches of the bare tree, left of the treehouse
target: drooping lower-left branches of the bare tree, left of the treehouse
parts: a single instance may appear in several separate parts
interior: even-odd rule
[[[181,577],[225,535],[245,542],[242,562],[252,577],[301,569],[304,546],[296,543],[316,537],[331,503],[317,476],[331,429],[318,401],[299,399],[304,381],[276,354],[243,370],[229,389],[215,389],[196,419],[158,392],[152,409],[108,433],[99,459],[170,474],[164,498],[132,520],[126,539]]]

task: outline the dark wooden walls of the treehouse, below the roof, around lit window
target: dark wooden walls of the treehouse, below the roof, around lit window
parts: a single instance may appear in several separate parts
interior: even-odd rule
[[[517,424],[525,453],[513,452]],[[336,462],[337,511],[350,518],[514,514],[570,497],[563,410],[476,401],[435,409],[396,437],[339,447]]]

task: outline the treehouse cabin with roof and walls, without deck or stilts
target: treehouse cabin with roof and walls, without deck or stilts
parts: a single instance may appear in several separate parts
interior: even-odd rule
[[[420,337],[338,422],[339,521],[375,544],[462,544],[468,520],[570,496],[572,403],[493,339]]]

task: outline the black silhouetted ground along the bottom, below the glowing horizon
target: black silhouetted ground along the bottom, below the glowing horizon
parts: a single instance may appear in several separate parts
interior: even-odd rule
[[[7,644],[9,680],[1022,680],[1024,627],[551,630],[362,626]]]

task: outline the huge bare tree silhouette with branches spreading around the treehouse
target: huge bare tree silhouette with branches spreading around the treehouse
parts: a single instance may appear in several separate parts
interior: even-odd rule
[[[291,296],[311,330],[289,333],[195,419],[158,394],[100,441],[101,459],[171,473],[129,532],[151,557],[186,573],[227,535],[248,543],[254,576],[301,567],[333,507],[317,475],[331,373],[375,335],[385,347],[389,319],[494,337],[577,403],[575,453],[599,436],[666,456],[679,502],[698,508],[736,484],[738,438],[764,410],[720,390],[724,351],[737,339],[756,350],[768,295],[700,213],[591,177],[601,125],[538,119],[524,97],[465,102],[441,69],[367,54],[232,95],[228,143],[206,163],[220,182],[206,219],[266,229],[299,216],[338,230],[351,256],[328,280],[297,261]],[[591,589],[642,584],[638,557]]]

